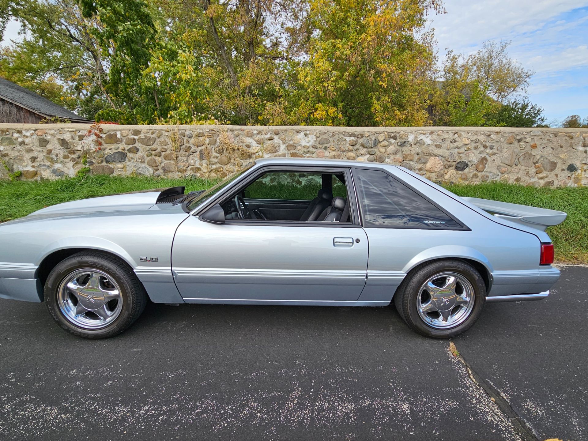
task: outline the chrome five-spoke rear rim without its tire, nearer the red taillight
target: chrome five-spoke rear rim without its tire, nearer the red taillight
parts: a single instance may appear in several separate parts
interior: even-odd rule
[[[416,308],[427,325],[447,329],[463,323],[472,312],[474,302],[474,289],[469,280],[454,272],[443,272],[423,283]]]

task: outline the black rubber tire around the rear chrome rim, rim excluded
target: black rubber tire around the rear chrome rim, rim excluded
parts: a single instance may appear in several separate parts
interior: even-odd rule
[[[420,317],[417,301],[420,287],[432,276],[443,272],[457,273],[466,278],[473,288],[474,303],[465,321],[452,328],[437,329],[428,325]],[[435,260],[417,266],[406,276],[394,295],[396,309],[410,329],[421,335],[438,339],[450,338],[469,329],[479,318],[485,302],[486,284],[484,279],[476,268],[459,259]]]

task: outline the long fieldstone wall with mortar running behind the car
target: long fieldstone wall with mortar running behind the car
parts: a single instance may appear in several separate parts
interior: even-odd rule
[[[436,182],[588,184],[588,129],[0,124],[0,158],[21,179],[74,176],[85,167],[216,177],[262,156],[386,162]]]

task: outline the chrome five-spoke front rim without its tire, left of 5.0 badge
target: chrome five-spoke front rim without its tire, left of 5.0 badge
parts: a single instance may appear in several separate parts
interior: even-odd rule
[[[118,318],[123,298],[111,275],[83,268],[65,276],[58,288],[57,302],[59,310],[75,326],[101,329]]]

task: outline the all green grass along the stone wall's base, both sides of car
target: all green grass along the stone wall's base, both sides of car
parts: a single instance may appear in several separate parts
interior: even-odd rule
[[[87,175],[56,181],[0,181],[0,222],[26,216],[48,205],[75,199],[177,185],[185,186],[186,191],[193,191],[209,188],[215,182],[217,181],[213,179],[138,176],[119,178],[104,175]],[[491,182],[451,185],[447,186],[447,189],[459,196],[520,203],[566,212],[567,219],[561,225],[547,229],[555,245],[556,260],[588,262],[588,188],[534,188]],[[308,188],[308,192],[306,190],[305,188],[305,195],[312,193],[312,196],[307,198],[305,195],[296,194],[296,198],[312,199],[318,191],[314,187]],[[259,191],[262,193],[261,189]]]

